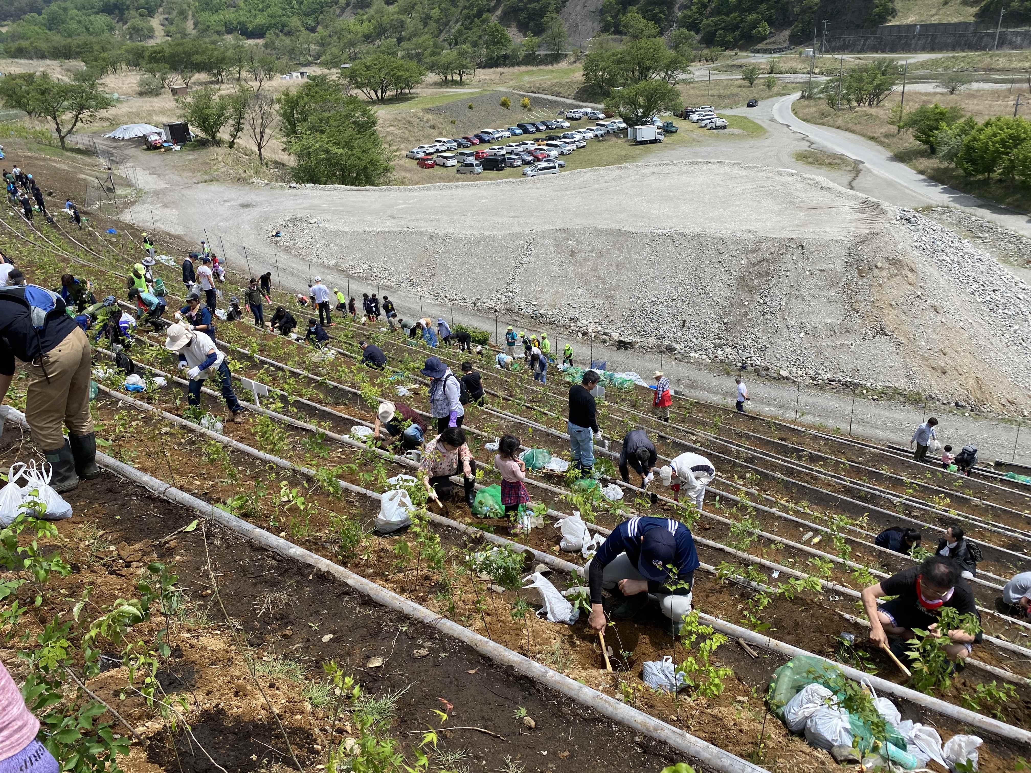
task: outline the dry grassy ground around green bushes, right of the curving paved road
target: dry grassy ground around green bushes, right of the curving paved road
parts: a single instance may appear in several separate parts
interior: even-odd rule
[[[1028,94],[1026,83],[1022,89],[1015,87],[1012,95],[1005,90],[967,90],[953,96],[944,93],[907,92],[905,106],[909,110],[922,104],[937,102],[944,106],[957,106],[966,114],[973,115],[977,121],[985,121],[993,115],[1012,115],[1013,100],[1018,92],[1021,92],[1022,103],[1024,100],[1028,100],[1029,109],[1031,109],[1031,95]],[[917,142],[908,132],[899,133],[895,127],[890,126],[888,112],[898,102],[898,96],[893,95],[880,107],[864,107],[836,112],[828,107],[823,100],[797,100],[792,105],[792,109],[803,121],[843,129],[873,140],[891,150],[895,158],[902,163],[937,182],[951,186],[964,193],[973,194],[988,201],[998,202],[1022,212],[1031,212],[1031,192],[1026,188],[1004,180],[993,179],[988,182],[982,178],[967,177],[952,164],[946,164],[931,156],[927,148]]]

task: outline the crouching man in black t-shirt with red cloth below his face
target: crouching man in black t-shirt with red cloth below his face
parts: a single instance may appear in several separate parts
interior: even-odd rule
[[[896,598],[878,606],[877,599]],[[973,591],[960,577],[959,567],[951,560],[932,556],[919,567],[893,574],[862,594],[863,607],[870,620],[870,641],[879,647],[891,643],[896,656],[904,654],[913,629],[934,632],[942,607],[952,607],[961,615],[972,614],[978,623],[980,614]],[[971,635],[962,629],[949,631],[952,644],[945,646],[950,660],[967,658],[982,633]]]

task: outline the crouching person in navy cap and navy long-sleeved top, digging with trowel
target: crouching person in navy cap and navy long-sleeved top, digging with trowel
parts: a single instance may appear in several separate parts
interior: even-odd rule
[[[692,585],[698,566],[695,540],[684,524],[657,517],[623,522],[587,563],[591,585],[588,625],[595,631],[605,628],[601,596],[604,589],[624,599],[612,610],[613,619],[629,619],[648,601],[655,601],[671,620],[675,636],[681,619],[691,614]]]

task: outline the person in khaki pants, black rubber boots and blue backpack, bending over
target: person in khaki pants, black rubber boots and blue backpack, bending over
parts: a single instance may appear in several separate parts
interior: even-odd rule
[[[90,341],[68,316],[61,296],[35,284],[0,288],[0,401],[13,379],[15,358],[29,373],[25,417],[54,468],[51,485],[63,493],[78,485],[80,477],[98,477]]]

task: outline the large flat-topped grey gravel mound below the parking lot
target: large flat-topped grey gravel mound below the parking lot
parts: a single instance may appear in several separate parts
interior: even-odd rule
[[[352,189],[339,215],[275,227],[317,263],[584,338],[1031,407],[1031,289],[941,224],[822,177],[685,161]]]

